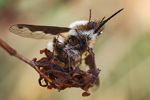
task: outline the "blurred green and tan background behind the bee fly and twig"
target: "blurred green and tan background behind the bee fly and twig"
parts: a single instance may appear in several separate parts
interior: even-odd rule
[[[29,65],[0,47],[0,100],[150,100],[150,0],[0,0],[0,38],[32,59],[48,40],[23,38],[9,32],[13,24],[69,26],[76,20],[109,17],[94,51],[101,69],[100,87],[82,97],[78,88],[47,90]]]

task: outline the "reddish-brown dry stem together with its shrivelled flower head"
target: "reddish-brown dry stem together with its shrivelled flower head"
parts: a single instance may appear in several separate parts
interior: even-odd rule
[[[90,95],[88,89],[93,86],[95,80],[100,72],[99,69],[90,69],[87,72],[80,70],[79,67],[72,66],[62,67],[63,62],[60,62],[53,53],[48,49],[41,50],[40,53],[45,53],[46,57],[41,58],[39,61],[34,58],[28,60],[24,56],[17,53],[16,50],[7,45],[0,39],[0,46],[4,48],[11,56],[15,56],[23,62],[29,64],[39,74],[39,84],[48,89],[64,90],[70,87],[80,87],[85,90],[83,96]],[[45,84],[42,83],[44,80]]]

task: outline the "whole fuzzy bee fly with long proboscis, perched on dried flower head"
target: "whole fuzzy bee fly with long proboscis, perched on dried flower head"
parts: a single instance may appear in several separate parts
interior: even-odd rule
[[[91,21],[90,10],[88,21],[75,21],[69,27],[16,24],[10,27],[10,31],[23,37],[53,39],[53,43],[48,43],[48,49],[65,66],[79,66],[83,59],[89,66],[94,58],[93,45],[102,33],[104,24],[122,10],[123,8],[100,21]]]

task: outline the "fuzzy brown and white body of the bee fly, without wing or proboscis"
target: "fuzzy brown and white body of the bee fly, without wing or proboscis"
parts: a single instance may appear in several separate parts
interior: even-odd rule
[[[99,26],[100,23],[101,22],[93,21],[76,21],[72,23],[70,25],[72,30],[70,30],[66,36],[59,36],[58,40],[57,37],[54,38],[53,46],[51,47],[55,48],[57,58],[65,62],[66,66],[69,66],[68,57],[71,66],[80,65],[82,60],[89,55],[88,49],[93,48],[97,37],[103,30],[103,27],[101,27],[97,33],[94,33],[94,29]]]

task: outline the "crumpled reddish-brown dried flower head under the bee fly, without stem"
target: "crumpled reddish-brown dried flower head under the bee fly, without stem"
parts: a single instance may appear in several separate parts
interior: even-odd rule
[[[61,67],[64,63],[52,56],[52,52],[48,49],[41,50],[41,53],[45,53],[46,57],[43,57],[39,61],[35,61],[37,62],[39,69],[45,73],[52,82],[49,83],[40,76],[40,86],[47,87],[48,89],[58,89],[59,91],[66,88],[78,87],[85,90],[82,94],[83,96],[90,95],[88,89],[94,85],[100,72],[99,69],[91,69],[86,72],[76,66]]]

